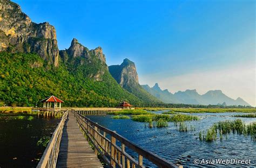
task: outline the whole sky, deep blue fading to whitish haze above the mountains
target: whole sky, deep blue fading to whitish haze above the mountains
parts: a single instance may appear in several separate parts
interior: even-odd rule
[[[124,58],[134,61],[142,84],[158,82],[172,93],[192,87],[200,94],[221,89],[256,105],[255,1],[14,2],[33,22],[56,27],[60,50],[75,37],[88,48],[101,46],[108,65]],[[200,73],[201,81],[189,77]],[[216,80],[208,83],[207,74]],[[241,79],[231,77],[237,75]],[[188,79],[177,81],[181,76]],[[250,81],[243,83],[242,78]]]

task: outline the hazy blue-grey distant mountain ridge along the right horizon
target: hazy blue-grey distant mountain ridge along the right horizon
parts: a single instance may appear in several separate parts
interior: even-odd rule
[[[177,93],[170,93],[167,89],[161,90],[158,83],[152,88],[148,85],[142,85],[147,92],[157,97],[159,100],[165,103],[183,103],[183,104],[223,104],[223,106],[241,105],[250,106],[247,102],[238,97],[237,100],[231,99],[226,96],[221,90],[210,90],[207,93],[200,95],[197,90],[185,90],[184,92],[179,91]]]

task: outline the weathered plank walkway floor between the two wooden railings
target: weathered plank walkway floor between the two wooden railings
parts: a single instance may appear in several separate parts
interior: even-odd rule
[[[71,111],[63,128],[57,167],[103,167]]]

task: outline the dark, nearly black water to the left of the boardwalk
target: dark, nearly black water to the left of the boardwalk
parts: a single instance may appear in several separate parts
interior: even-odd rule
[[[36,167],[45,149],[37,142],[51,136],[60,119],[17,116],[0,114],[0,167]]]

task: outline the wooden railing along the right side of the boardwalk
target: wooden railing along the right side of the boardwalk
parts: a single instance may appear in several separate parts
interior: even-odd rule
[[[160,158],[156,154],[132,143],[125,137],[117,134],[116,131],[102,127],[89,118],[80,115],[75,110],[72,111],[87,140],[94,146],[95,153],[99,153],[111,167],[144,167],[143,158],[150,160],[150,162],[158,167],[179,167],[179,165],[170,163],[168,160]],[[110,139],[107,138],[107,135],[109,135]],[[120,142],[120,146],[116,144],[117,141]],[[138,160],[126,153],[125,147],[138,153]]]

